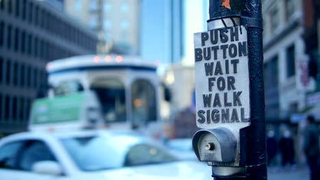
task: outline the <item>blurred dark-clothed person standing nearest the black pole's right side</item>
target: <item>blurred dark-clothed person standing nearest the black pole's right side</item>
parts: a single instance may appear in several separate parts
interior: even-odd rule
[[[267,155],[268,155],[268,166],[276,164],[275,157],[278,151],[278,142],[275,137],[273,130],[267,134]]]

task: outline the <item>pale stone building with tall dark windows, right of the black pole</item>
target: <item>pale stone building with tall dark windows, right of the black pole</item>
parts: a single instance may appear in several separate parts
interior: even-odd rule
[[[266,117],[288,122],[306,108],[312,84],[303,78],[308,74],[302,1],[263,1],[263,26]]]

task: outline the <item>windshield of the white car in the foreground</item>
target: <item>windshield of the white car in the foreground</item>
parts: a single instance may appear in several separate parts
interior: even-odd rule
[[[176,157],[131,136],[62,138],[72,160],[83,171],[174,162]]]

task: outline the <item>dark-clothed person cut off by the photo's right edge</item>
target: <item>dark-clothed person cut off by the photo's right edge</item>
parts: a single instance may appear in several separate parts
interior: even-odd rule
[[[317,125],[315,124],[315,117],[311,115],[306,119],[303,148],[310,168],[310,179],[319,180],[319,132]]]

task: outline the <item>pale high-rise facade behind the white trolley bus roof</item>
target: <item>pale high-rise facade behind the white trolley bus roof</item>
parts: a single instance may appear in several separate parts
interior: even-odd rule
[[[64,1],[64,10],[98,34],[98,52],[138,54],[139,0]]]

